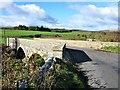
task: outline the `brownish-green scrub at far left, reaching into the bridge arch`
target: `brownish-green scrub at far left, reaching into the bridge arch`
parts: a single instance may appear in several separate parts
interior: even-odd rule
[[[34,71],[45,63],[44,59],[39,54],[33,54],[29,63],[24,63],[22,59],[16,59],[11,53],[12,49],[8,51],[6,48],[2,54],[2,88],[17,88],[17,82],[26,79],[29,80],[28,87],[33,88],[32,76]],[[33,73],[30,74],[30,67],[26,64],[36,65],[37,68],[32,69]]]

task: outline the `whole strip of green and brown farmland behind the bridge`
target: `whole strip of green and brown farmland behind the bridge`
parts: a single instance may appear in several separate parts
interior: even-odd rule
[[[52,38],[61,40],[95,40],[102,42],[119,42],[119,31],[70,31],[67,30],[51,30],[51,31],[34,31],[34,30],[2,30],[0,36],[0,43],[5,43],[6,37],[19,37],[19,38]]]

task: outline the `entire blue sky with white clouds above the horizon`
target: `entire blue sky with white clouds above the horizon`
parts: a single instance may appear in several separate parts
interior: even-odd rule
[[[117,2],[0,2],[0,26],[118,30]]]

